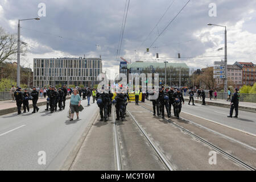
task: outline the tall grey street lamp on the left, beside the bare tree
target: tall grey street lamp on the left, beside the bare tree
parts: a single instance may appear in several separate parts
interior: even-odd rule
[[[24,20],[39,20],[40,18],[30,18],[30,19],[19,19],[20,21]],[[18,23],[18,50],[17,50],[17,86],[20,86],[20,24]]]

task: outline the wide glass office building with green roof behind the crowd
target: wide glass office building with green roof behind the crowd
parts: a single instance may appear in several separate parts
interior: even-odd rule
[[[121,66],[122,65],[122,66]],[[125,69],[127,65],[127,71]],[[166,63],[167,83],[165,83],[165,63],[136,61],[135,63],[120,63],[119,73],[158,73],[159,84],[167,86],[185,86],[189,77],[189,68],[185,63]],[[128,74],[127,74],[128,75]],[[154,75],[153,75],[154,77]],[[128,80],[128,79],[127,79]]]

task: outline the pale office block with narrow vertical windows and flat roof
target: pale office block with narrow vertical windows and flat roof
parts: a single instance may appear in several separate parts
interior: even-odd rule
[[[34,59],[34,86],[84,85],[92,87],[99,83],[102,73],[101,58],[49,58]]]

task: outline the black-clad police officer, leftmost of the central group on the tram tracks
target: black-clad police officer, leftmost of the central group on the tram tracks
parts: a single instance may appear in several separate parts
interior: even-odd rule
[[[101,120],[100,121],[108,121],[108,102],[109,102],[109,94],[104,92],[104,87],[102,86],[100,92],[96,94],[96,101],[98,107],[100,107],[100,115]],[[104,115],[103,115],[104,111]]]

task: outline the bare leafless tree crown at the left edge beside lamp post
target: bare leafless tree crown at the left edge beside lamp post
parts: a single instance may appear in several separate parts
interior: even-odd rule
[[[18,44],[15,34],[7,34],[2,27],[0,27],[0,64],[6,60],[13,60],[18,52]]]

